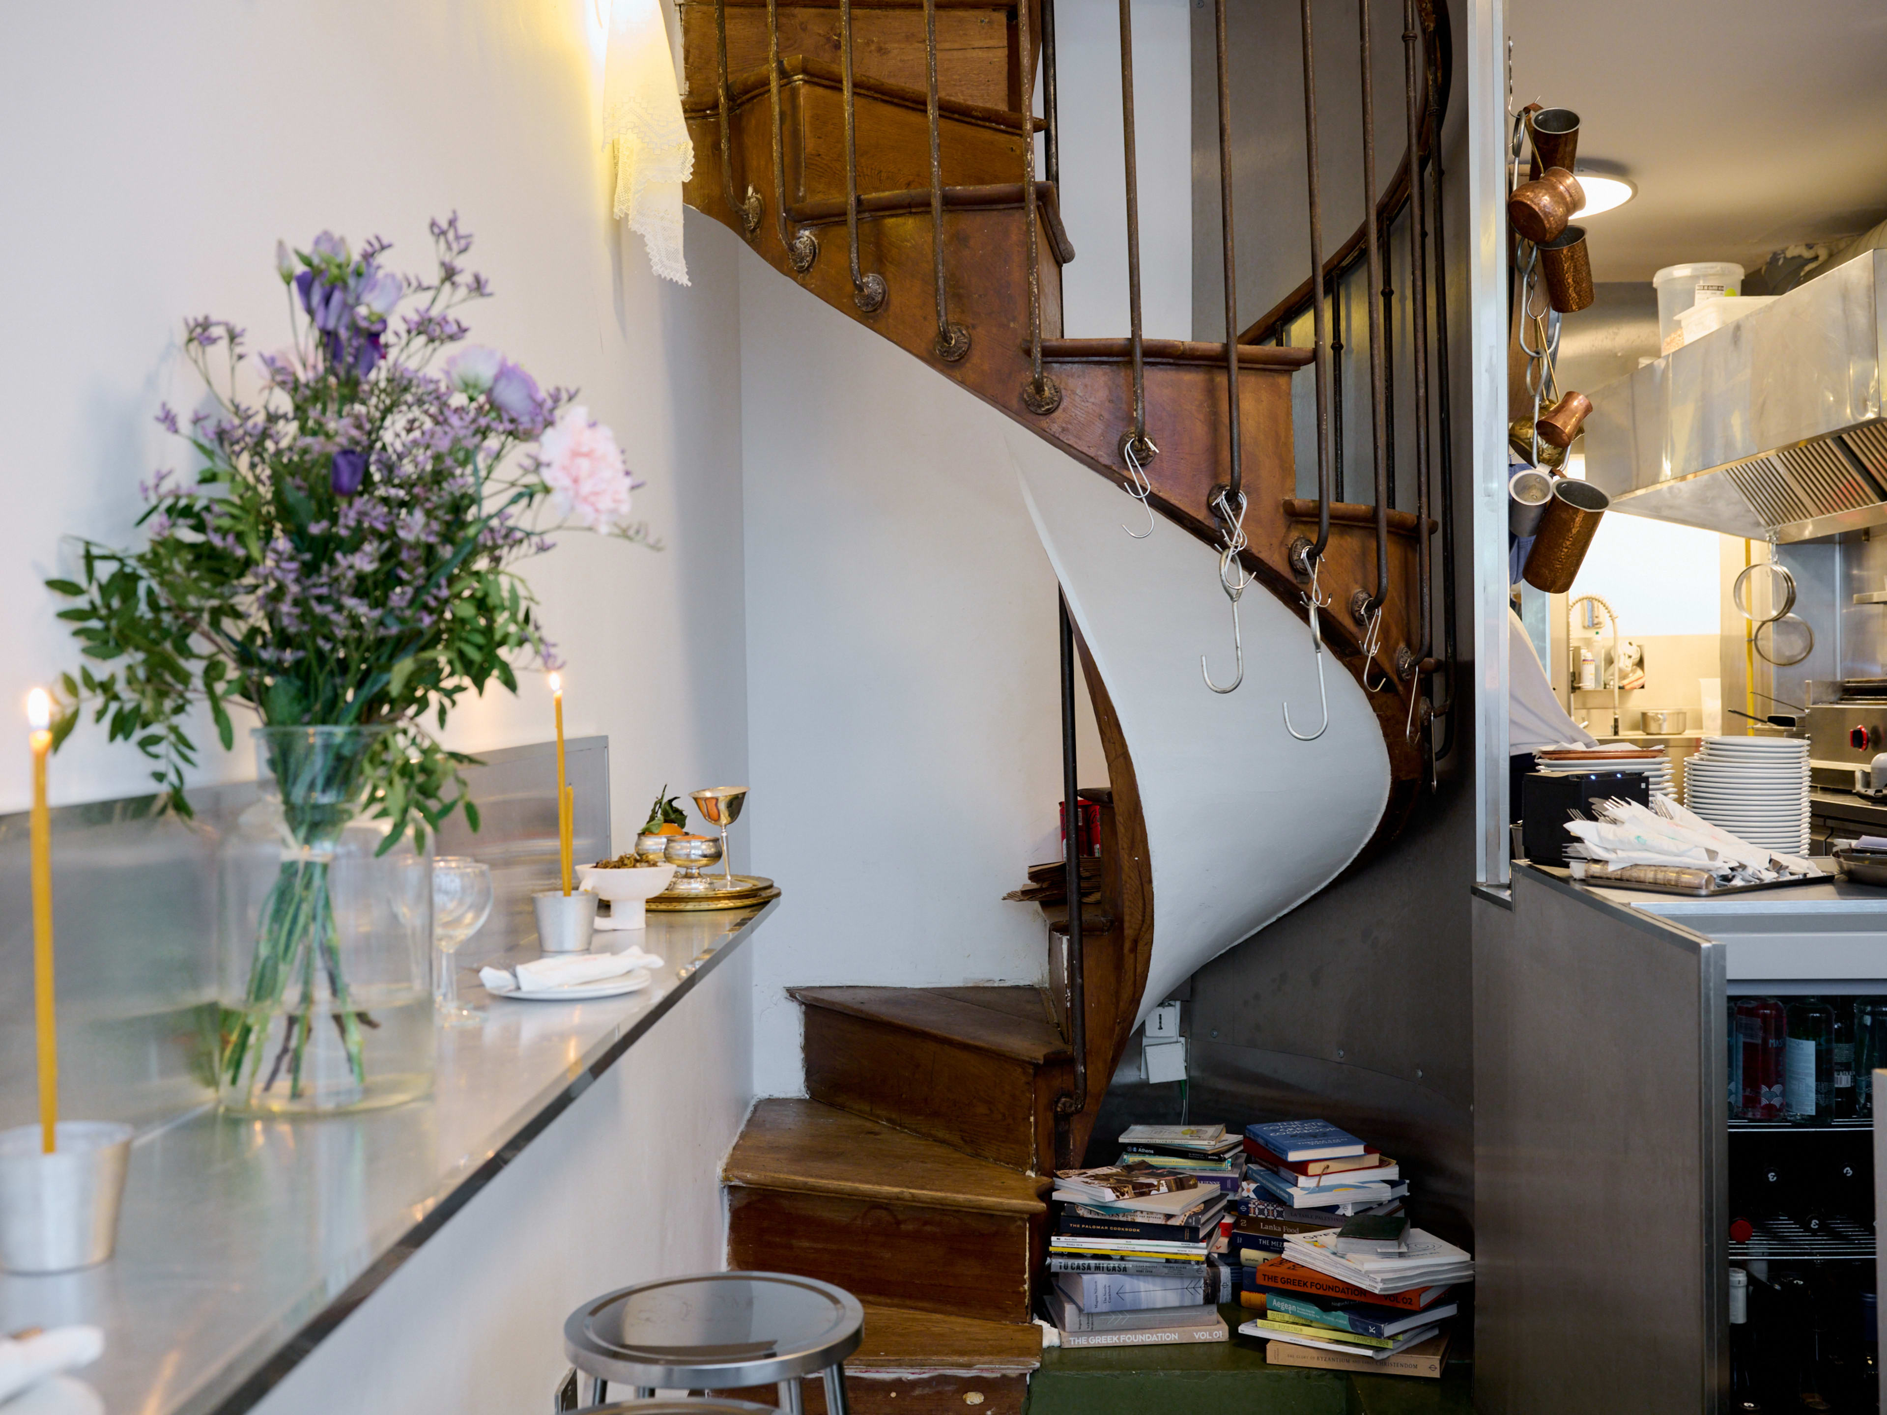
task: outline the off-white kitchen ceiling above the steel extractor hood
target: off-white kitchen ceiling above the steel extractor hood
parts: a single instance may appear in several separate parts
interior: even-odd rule
[[[1887,217],[1887,0],[1508,0],[1513,104],[1579,113],[1638,185],[1593,217],[1602,281],[1757,268]]]

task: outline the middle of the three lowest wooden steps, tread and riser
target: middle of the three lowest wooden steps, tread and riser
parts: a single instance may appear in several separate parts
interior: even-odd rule
[[[721,1177],[730,1268],[913,1311],[1030,1319],[1047,1179],[815,1100],[759,1102]]]

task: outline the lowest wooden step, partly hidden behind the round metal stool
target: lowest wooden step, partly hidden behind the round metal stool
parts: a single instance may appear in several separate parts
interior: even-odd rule
[[[1021,1415],[1042,1364],[1034,1323],[985,1323],[864,1304],[864,1341],[845,1360],[853,1415]],[[730,1390],[774,1404],[772,1389]],[[825,1389],[806,1385],[808,1415],[825,1415]]]

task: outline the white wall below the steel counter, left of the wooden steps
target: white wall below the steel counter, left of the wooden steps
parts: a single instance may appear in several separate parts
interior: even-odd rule
[[[676,1004],[289,1372],[259,1415],[547,1411],[577,1304],[723,1268],[710,1177],[747,1117],[751,1053],[738,1019],[764,938]]]

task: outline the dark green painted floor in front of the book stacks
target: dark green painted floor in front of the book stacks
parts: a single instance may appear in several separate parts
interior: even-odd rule
[[[1044,1351],[1028,1415],[1468,1415],[1472,1368],[1449,1358],[1440,1381],[1266,1366],[1238,1334],[1244,1307],[1219,1309],[1232,1340],[1183,1347]]]

